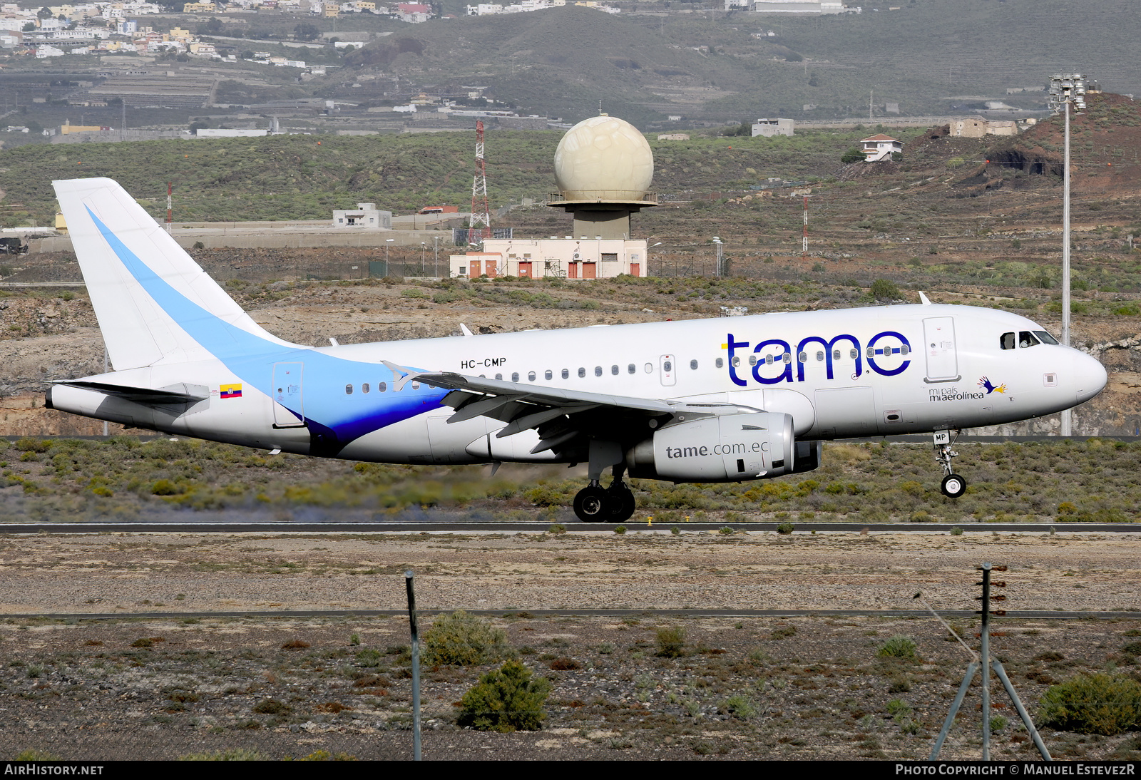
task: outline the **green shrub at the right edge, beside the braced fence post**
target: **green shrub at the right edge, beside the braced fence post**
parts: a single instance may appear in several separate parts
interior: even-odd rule
[[[1141,683],[1110,674],[1079,674],[1051,685],[1038,722],[1061,731],[1112,737],[1141,729]]]

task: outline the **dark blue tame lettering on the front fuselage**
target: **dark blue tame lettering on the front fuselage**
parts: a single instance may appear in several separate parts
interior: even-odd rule
[[[865,363],[882,376],[901,374],[912,364],[904,359],[911,354],[912,344],[897,331],[876,333],[866,347],[847,333],[833,336],[831,341],[822,336],[806,336],[798,342],[795,352],[784,339],[766,339],[750,349],[750,342],[737,341],[729,333],[721,349],[729,351],[729,379],[741,387],[748,385],[750,373],[753,381],[760,384],[803,382],[810,363],[823,363],[830,380],[835,379],[836,368],[845,361],[852,364],[852,379],[864,373]],[[747,357],[742,358],[738,352],[747,352]],[[793,363],[796,364],[795,377]]]

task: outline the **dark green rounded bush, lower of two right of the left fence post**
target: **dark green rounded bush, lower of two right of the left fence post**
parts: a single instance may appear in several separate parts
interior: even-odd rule
[[[551,692],[545,677],[532,677],[531,669],[509,660],[479,677],[460,700],[460,726],[480,731],[534,731],[543,724],[543,704]]]

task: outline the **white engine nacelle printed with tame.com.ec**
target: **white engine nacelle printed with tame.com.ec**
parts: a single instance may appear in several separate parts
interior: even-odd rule
[[[794,471],[792,416],[771,412],[679,422],[626,453],[631,477],[739,482]]]

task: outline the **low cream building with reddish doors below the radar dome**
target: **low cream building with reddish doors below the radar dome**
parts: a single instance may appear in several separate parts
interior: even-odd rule
[[[646,276],[646,241],[583,238],[488,238],[483,252],[453,254],[453,278],[517,276],[541,279],[602,279]]]

